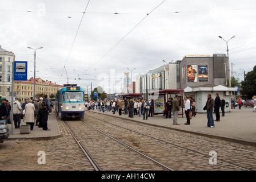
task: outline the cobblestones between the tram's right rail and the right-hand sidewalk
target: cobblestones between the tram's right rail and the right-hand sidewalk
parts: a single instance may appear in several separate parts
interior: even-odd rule
[[[97,113],[87,113],[87,116],[97,119],[85,118],[86,122],[99,127],[122,142],[134,146],[138,151],[174,170],[256,169],[256,147],[160,129]],[[125,129],[110,126],[109,123],[98,121],[98,119],[122,126]],[[210,152],[215,152],[216,165],[209,163]]]

